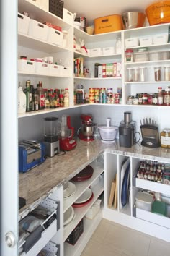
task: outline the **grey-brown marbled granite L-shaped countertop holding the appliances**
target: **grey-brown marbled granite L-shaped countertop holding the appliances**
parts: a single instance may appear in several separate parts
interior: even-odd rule
[[[99,139],[93,142],[78,139],[76,148],[65,155],[47,158],[40,166],[24,174],[19,173],[19,196],[24,197],[27,202],[24,208],[19,210],[19,219],[26,216],[58,186],[73,178],[104,151],[170,163],[170,149],[146,148],[140,143],[131,148],[120,148],[118,142],[108,144]]]

